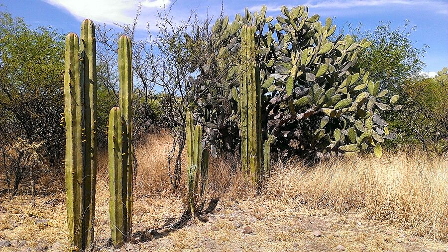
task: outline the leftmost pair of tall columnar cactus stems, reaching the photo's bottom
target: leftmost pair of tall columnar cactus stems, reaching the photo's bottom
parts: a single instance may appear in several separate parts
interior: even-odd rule
[[[66,126],[66,195],[69,241],[74,248],[94,246],[96,184],[96,45],[95,25],[86,19],[78,35],[65,42],[64,120]]]

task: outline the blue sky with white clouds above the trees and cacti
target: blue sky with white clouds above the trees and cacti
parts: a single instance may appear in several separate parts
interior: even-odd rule
[[[221,0],[0,0],[3,7],[15,16],[21,16],[32,26],[52,26],[61,33],[79,33],[80,21],[90,18],[97,23],[127,24],[135,17],[141,2],[142,14],[137,28],[145,36],[147,23],[155,30],[155,14],[161,6],[172,5],[176,20],[189,16],[195,9],[205,18],[218,16]],[[230,17],[243,12],[244,7],[254,11],[266,4],[268,15],[277,16],[282,4],[292,7],[291,1],[280,0],[224,0],[224,13]],[[411,40],[415,47],[426,48],[423,61],[426,72],[437,72],[448,66],[448,0],[305,0],[295,4],[310,6],[312,14],[325,20],[334,18],[338,28],[351,23],[362,23],[363,29],[374,29],[380,21],[390,21],[392,28],[402,27],[406,20],[416,26]]]

